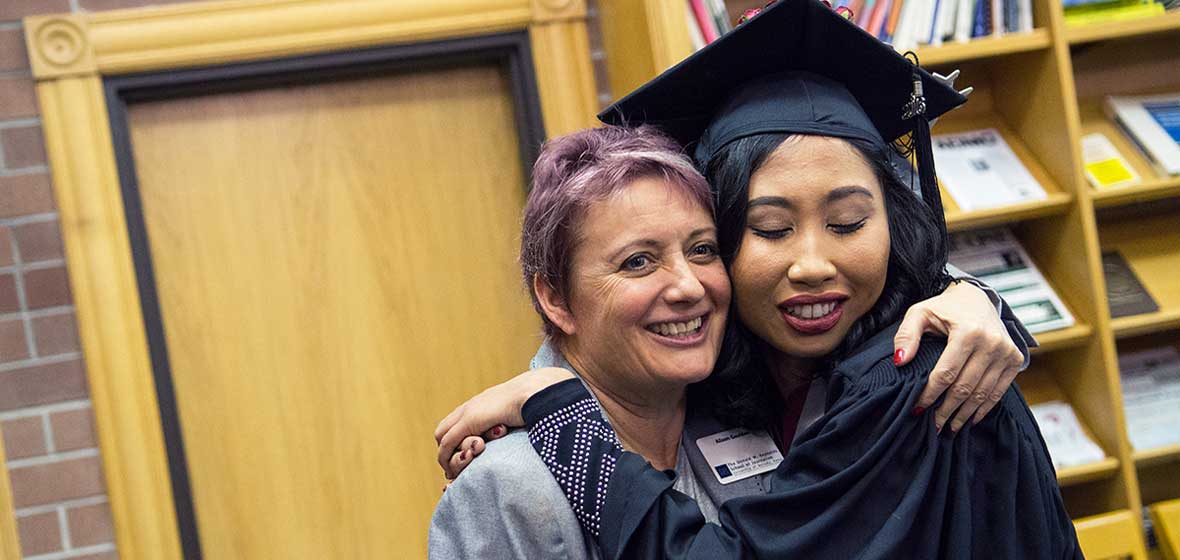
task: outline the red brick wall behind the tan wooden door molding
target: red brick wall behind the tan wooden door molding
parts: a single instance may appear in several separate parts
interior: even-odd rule
[[[117,553],[20,19],[157,4],[173,1],[0,0],[0,435],[26,559]],[[605,106],[605,54],[588,5]]]

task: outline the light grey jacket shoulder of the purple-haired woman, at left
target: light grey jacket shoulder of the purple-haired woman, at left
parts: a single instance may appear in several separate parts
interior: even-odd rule
[[[565,495],[524,431],[489,442],[434,510],[431,558],[588,558]]]

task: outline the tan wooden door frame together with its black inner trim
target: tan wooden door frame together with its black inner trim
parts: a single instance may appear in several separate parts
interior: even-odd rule
[[[25,29],[116,541],[129,559],[201,558],[191,498],[173,493],[175,469],[185,469],[179,428],[166,426],[166,378],[157,387],[158,307],[155,290],[142,291],[146,238],[138,197],[126,197],[136,193],[129,99],[500,57],[514,93],[539,94],[539,119],[513,95],[525,164],[542,121],[560,134],[592,126],[597,110],[584,0],[225,0],[32,17]],[[166,353],[163,363],[166,373]]]

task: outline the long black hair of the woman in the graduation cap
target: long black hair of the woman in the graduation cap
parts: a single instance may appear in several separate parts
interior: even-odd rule
[[[703,163],[713,189],[717,243],[726,266],[733,265],[746,230],[750,177],[792,136],[741,138]],[[910,305],[942,292],[950,282],[946,276],[948,241],[938,226],[939,217],[899,178],[902,170],[893,166],[899,158],[890,153],[892,147],[856,139],[847,141],[881,185],[889,217],[890,256],[880,297],[828,356],[831,363],[883,328],[900,321]],[[771,427],[778,389],[763,357],[765,344],[738,319],[736,309],[730,305],[717,365],[708,380],[693,386],[690,396],[712,408],[723,422],[750,428]]]

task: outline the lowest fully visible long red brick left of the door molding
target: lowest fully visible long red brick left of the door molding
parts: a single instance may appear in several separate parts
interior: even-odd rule
[[[73,459],[8,470],[13,506],[41,506],[104,493],[98,457]]]

